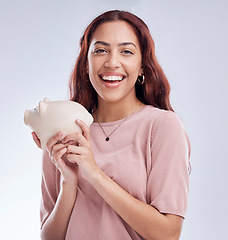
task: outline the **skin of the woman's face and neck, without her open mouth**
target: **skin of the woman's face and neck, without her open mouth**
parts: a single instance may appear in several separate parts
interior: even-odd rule
[[[139,41],[129,24],[115,21],[97,28],[88,51],[87,68],[98,93],[97,121],[119,120],[135,111],[140,103],[135,82],[143,69]],[[115,74],[124,77],[121,86],[106,87],[100,76]]]

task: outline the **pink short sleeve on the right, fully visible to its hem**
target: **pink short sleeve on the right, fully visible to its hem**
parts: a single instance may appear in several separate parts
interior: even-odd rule
[[[153,125],[147,186],[150,204],[161,213],[185,218],[190,151],[189,138],[178,115],[162,113]]]

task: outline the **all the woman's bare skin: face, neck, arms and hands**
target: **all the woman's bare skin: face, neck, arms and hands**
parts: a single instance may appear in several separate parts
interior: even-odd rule
[[[128,23],[108,22],[96,29],[87,64],[90,81],[98,93],[95,121],[116,121],[143,107],[143,104],[139,107],[134,88],[138,75],[143,73],[141,60],[138,39]],[[101,79],[101,76],[115,74],[124,76],[118,87],[110,87]],[[183,219],[172,214],[161,214],[154,207],[132,197],[105,175],[94,159],[89,128],[80,120],[76,123],[81,127],[82,134],[66,136],[60,142],[60,132],[47,143],[49,156],[61,172],[63,183],[55,208],[42,228],[42,239],[65,238],[76,200],[78,170],[110,207],[142,237],[150,240],[179,239]],[[40,147],[35,133],[33,139]]]

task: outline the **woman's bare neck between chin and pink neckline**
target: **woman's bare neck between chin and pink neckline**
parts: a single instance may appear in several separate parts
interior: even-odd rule
[[[96,122],[114,122],[138,111],[143,105],[138,99],[131,103],[98,101],[98,108],[93,117]]]

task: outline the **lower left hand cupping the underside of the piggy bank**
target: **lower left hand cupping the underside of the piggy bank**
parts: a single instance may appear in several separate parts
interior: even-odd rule
[[[70,163],[66,158],[67,146],[73,141],[62,143],[62,133],[59,132],[47,142],[49,157],[63,176],[63,181],[76,187],[78,182],[78,166]]]

